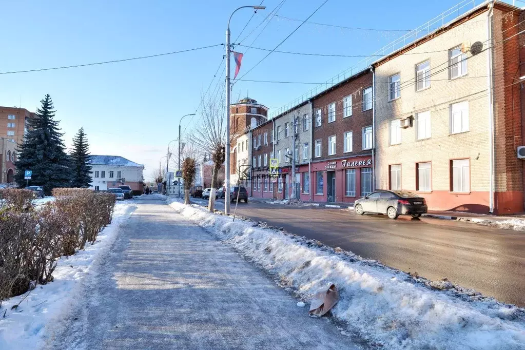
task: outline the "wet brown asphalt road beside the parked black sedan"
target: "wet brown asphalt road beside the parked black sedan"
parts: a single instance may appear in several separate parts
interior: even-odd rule
[[[192,198],[196,204],[207,200]],[[232,212],[235,204],[232,204]],[[224,200],[216,208],[224,210]],[[239,203],[237,215],[350,250],[430,280],[447,278],[525,306],[525,232],[431,218],[397,220],[349,210]]]

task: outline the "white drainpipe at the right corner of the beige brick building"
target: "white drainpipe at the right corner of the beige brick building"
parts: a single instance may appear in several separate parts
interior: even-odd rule
[[[489,213],[494,211],[494,108],[492,96],[492,27],[490,20],[492,18],[492,10],[494,8],[493,0],[488,5],[489,11],[487,13],[487,41],[490,48],[487,54],[487,82],[488,82],[488,98],[489,98],[489,124],[490,124],[490,142],[489,142]]]

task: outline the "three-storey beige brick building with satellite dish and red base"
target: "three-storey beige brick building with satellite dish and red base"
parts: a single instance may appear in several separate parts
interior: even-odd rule
[[[523,211],[520,12],[478,6],[374,63],[377,188],[429,209]]]

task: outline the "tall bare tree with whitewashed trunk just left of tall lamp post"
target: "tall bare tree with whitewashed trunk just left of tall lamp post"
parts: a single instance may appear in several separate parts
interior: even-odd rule
[[[214,210],[215,189],[219,186],[217,175],[225,160],[226,115],[224,99],[202,96],[200,125],[195,129],[194,142],[213,161],[212,192],[209,195],[208,210]],[[222,185],[222,184],[221,184]]]

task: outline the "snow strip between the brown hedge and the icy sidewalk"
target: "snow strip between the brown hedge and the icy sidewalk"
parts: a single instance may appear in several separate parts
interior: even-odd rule
[[[129,203],[117,203],[113,221],[100,232],[95,245],[88,244],[85,250],[60,258],[53,282],[37,285],[29,293],[2,301],[0,349],[38,349],[44,344],[73,309],[86,277],[96,273],[96,266],[111,248],[121,225],[133,209]],[[18,303],[19,306],[12,310],[12,306]]]

